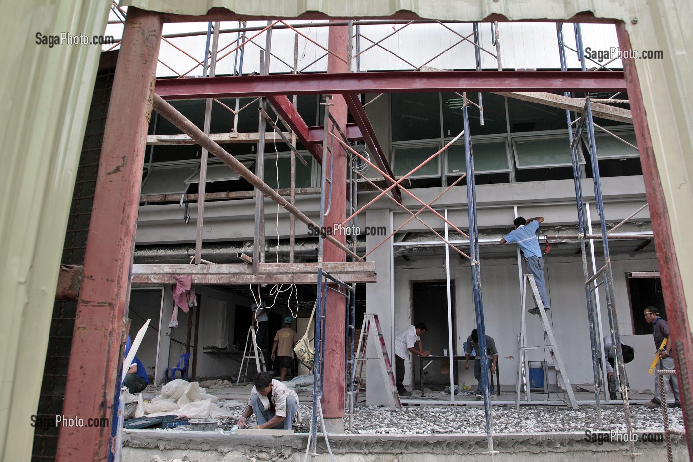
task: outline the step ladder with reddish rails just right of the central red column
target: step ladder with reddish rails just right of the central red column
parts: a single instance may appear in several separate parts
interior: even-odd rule
[[[373,358],[366,357],[366,349],[371,329],[375,331],[374,335],[376,335],[378,339],[378,344],[376,345],[377,356]],[[377,359],[378,363],[380,363],[380,371],[383,373],[385,387],[389,388],[387,390],[387,400],[390,409],[401,408],[402,402],[399,399],[399,393],[397,391],[397,382],[395,381],[394,370],[392,370],[392,361],[390,361],[389,354],[387,354],[385,338],[383,337],[383,330],[380,329],[378,315],[374,313],[366,313],[361,326],[361,335],[358,339],[358,350],[356,350],[356,370],[358,371],[356,375],[356,391],[353,393],[352,406],[358,404],[358,395],[360,391],[366,391],[365,388],[362,388],[361,377],[363,377],[363,367],[366,361],[370,359]]]

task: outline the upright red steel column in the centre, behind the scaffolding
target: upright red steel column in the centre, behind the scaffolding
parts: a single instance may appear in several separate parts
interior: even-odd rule
[[[349,28],[347,26],[331,26],[328,36],[328,49],[337,55],[347,57],[347,44],[349,44]],[[328,73],[349,72],[346,62],[328,55]],[[347,103],[341,94],[332,95],[333,106],[330,106],[330,114],[344,129],[347,126]],[[330,143],[325,139],[324,143]],[[325,217],[325,226],[332,227],[334,223],[342,223],[347,218],[347,153],[339,143],[333,144],[332,155],[335,156],[332,173],[332,208],[330,214]],[[322,165],[330,164],[330,153],[322,160]],[[340,242],[346,242],[344,234],[334,234]],[[333,243],[325,241],[323,250],[324,262],[344,262],[346,255],[343,250]],[[345,310],[344,297],[334,291],[327,291],[327,312],[325,329],[325,364],[324,364],[324,394],[322,397],[322,410],[326,419],[339,419],[337,425],[328,431],[342,431],[342,418],[344,417],[344,342],[345,342]]]

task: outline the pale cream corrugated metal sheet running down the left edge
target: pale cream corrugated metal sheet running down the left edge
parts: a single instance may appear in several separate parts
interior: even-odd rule
[[[0,130],[6,198],[0,205],[0,250],[6,317],[0,323],[5,373],[0,459],[27,461],[33,444],[53,298],[98,45],[39,45],[35,33],[103,33],[108,2],[4,2],[0,8],[3,108]],[[10,442],[8,444],[8,442]]]

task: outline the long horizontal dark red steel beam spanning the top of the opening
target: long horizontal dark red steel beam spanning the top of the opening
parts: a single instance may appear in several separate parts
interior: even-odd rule
[[[623,72],[446,71],[160,78],[164,99],[419,92],[623,92]],[[288,101],[288,99],[286,100]]]

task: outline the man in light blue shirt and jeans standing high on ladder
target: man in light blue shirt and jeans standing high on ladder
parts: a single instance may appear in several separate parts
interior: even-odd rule
[[[544,305],[546,311],[550,310],[549,298],[546,296],[546,282],[544,281],[544,260],[541,258],[541,248],[539,248],[539,239],[536,237],[536,231],[539,229],[539,223],[544,221],[543,216],[535,216],[533,219],[526,220],[518,216],[513,224],[515,230],[507,234],[506,237],[500,239],[500,243],[518,243],[520,249],[525,254],[525,266],[529,274],[534,276],[536,289],[539,291],[541,304]],[[534,307],[529,310],[529,314],[539,314],[539,309]]]

